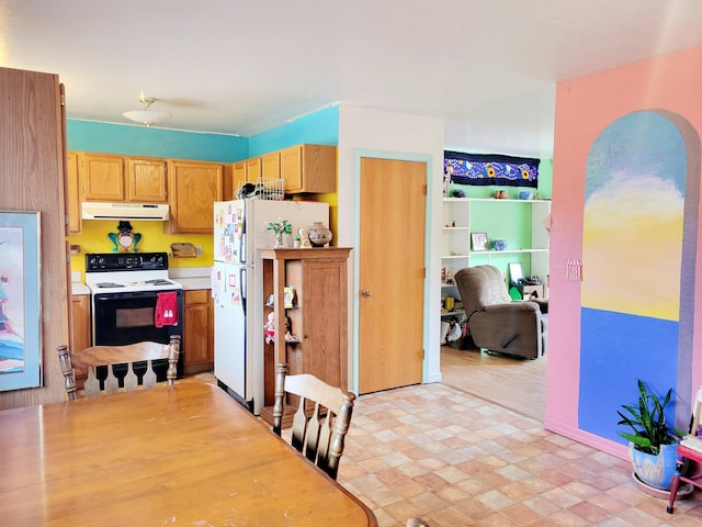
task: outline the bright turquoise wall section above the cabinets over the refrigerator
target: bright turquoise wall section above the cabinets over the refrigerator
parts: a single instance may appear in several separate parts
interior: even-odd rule
[[[249,156],[256,157],[288,146],[339,144],[339,106],[319,110],[292,123],[249,137]]]

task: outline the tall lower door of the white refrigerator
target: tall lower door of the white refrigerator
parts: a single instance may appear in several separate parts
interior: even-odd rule
[[[246,273],[242,266],[215,262],[219,290],[215,294],[215,377],[245,401],[246,358]]]

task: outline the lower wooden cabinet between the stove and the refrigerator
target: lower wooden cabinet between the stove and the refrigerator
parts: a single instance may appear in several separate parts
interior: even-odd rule
[[[184,291],[185,374],[212,370],[215,360],[214,302],[210,289]]]

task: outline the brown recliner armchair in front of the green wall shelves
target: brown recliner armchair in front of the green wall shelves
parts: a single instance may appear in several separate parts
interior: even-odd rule
[[[477,347],[530,359],[546,352],[547,301],[513,301],[495,266],[461,269],[455,280]]]

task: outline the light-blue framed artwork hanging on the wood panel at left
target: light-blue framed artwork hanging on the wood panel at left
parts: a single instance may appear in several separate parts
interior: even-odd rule
[[[42,385],[39,213],[0,212],[0,391]]]

